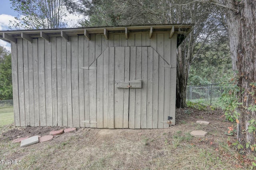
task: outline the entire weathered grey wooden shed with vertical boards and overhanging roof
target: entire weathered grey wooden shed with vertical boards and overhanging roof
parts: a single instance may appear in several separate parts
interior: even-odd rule
[[[191,25],[0,31],[11,43],[15,126],[168,128],[176,48]]]

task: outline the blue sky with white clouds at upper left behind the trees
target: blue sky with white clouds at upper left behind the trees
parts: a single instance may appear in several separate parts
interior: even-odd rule
[[[18,17],[18,13],[11,9],[11,2],[10,0],[0,0],[0,30],[5,31],[9,28],[9,21],[14,20],[14,17]],[[68,27],[74,27],[77,24],[77,20],[81,18],[77,15],[67,14],[68,16],[65,18],[68,22]],[[11,46],[10,43],[3,41],[0,39],[0,46],[5,47],[6,49],[10,50]]]

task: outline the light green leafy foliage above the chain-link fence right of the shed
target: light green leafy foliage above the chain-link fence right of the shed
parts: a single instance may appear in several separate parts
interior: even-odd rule
[[[232,77],[228,42],[224,37],[220,37],[204,45],[198,57],[194,59],[190,67],[188,85],[222,83]]]

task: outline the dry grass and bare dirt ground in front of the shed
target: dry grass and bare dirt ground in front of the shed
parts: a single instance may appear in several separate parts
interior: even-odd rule
[[[239,154],[228,136],[234,123],[221,110],[176,109],[176,125],[169,129],[78,128],[45,143],[21,148],[17,137],[49,135],[65,127],[5,126],[0,134],[0,169],[247,169],[252,160]],[[209,125],[196,124],[197,120]],[[235,129],[235,128],[234,128]],[[208,132],[192,137],[193,130]]]

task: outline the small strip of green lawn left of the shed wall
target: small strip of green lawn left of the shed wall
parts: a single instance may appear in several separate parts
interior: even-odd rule
[[[0,107],[0,127],[14,123],[13,107]]]

